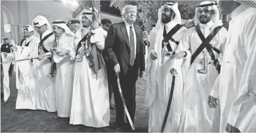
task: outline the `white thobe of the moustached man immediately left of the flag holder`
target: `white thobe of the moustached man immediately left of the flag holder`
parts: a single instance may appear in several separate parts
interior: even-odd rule
[[[73,35],[64,32],[59,38],[56,37],[57,48],[70,50],[69,44],[73,42]],[[56,62],[55,94],[56,106],[59,117],[69,117],[72,100],[73,67],[74,60],[69,56],[53,54]]]

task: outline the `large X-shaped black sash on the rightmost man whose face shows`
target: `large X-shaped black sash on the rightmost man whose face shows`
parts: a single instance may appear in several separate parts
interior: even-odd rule
[[[190,64],[192,64],[196,57],[199,55],[200,52],[202,52],[202,50],[204,48],[207,49],[208,53],[210,54],[211,56],[211,59],[214,60],[215,59],[215,55],[212,51],[212,49],[214,51],[216,51],[217,53],[220,53],[220,50],[218,50],[216,47],[212,46],[209,42],[213,39],[213,37],[218,33],[218,31],[221,29],[222,26],[217,26],[215,27],[211,33],[206,37],[204,38],[204,35],[199,27],[199,24],[195,26],[196,28],[196,32],[197,34],[199,35],[200,39],[202,40],[202,44],[196,49],[196,51],[193,53],[193,55],[191,56],[191,62]]]

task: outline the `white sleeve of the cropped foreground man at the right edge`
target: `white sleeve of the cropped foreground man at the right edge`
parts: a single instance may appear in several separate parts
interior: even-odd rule
[[[248,96],[248,92],[256,90],[256,14],[252,15],[245,23],[244,29],[244,46],[247,55],[237,98],[234,100],[228,116],[228,122],[241,132],[248,132],[248,130],[255,126],[253,120],[256,118],[256,104]]]

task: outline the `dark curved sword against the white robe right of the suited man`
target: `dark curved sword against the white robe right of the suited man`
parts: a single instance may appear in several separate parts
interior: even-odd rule
[[[172,98],[173,98],[174,83],[175,83],[175,75],[173,74],[171,92],[170,92],[170,96],[169,96],[169,100],[168,100],[168,104],[167,104],[167,108],[166,108],[166,112],[165,112],[165,117],[164,117],[164,121],[163,121],[160,132],[163,132],[164,129],[165,129],[165,124],[166,124],[166,121],[167,121],[167,118],[168,118],[168,115],[169,115],[169,111],[170,111],[170,107],[171,107],[171,103],[172,103]]]

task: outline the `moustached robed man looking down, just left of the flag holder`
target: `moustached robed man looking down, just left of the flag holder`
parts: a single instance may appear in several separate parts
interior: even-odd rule
[[[73,32],[68,28],[65,21],[56,20],[52,23],[53,33],[56,38],[52,53],[51,74],[56,75],[55,94],[56,106],[59,117],[69,117],[73,87],[74,60],[70,60],[70,44],[73,44]]]

